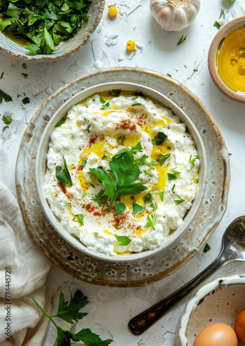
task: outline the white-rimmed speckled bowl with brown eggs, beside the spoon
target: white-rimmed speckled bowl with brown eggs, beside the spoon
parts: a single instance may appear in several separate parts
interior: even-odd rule
[[[179,319],[176,346],[226,346],[224,339],[228,346],[244,345],[234,331],[237,316],[245,310],[244,292],[245,275],[219,277],[202,286]],[[209,326],[212,329],[204,329]],[[237,327],[244,328],[245,336],[245,319],[240,318]]]

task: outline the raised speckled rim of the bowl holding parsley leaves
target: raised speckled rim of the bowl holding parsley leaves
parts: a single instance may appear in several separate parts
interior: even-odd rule
[[[35,62],[56,62],[57,60],[62,59],[62,57],[69,56],[75,53],[76,51],[79,51],[82,48],[82,46],[84,46],[84,44],[86,44],[89,41],[89,38],[91,37],[92,33],[96,30],[98,24],[100,23],[104,8],[105,8],[105,0],[100,0],[100,8],[98,10],[98,16],[95,19],[95,23],[93,24],[91,29],[88,31],[86,37],[84,37],[82,42],[79,42],[78,46],[76,46],[75,48],[71,48],[68,51],[61,51],[60,54],[57,54],[57,55],[56,54],[26,55],[24,53],[22,54],[22,53],[17,53],[15,51],[11,51],[10,49],[5,48],[3,46],[0,46],[0,51],[3,51],[4,53],[11,55],[12,57],[16,57],[17,59],[21,59],[26,62],[34,62],[34,63]],[[3,35],[3,34],[0,32],[0,35]]]

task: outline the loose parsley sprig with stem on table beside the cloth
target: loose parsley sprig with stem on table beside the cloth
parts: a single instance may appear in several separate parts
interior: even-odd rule
[[[58,326],[53,320],[53,317],[59,317],[62,318],[62,320],[73,325],[74,321],[78,322],[78,320],[81,320],[84,316],[87,315],[87,313],[78,312],[89,302],[89,300],[87,300],[87,297],[83,295],[80,290],[76,291],[74,295],[71,294],[69,303],[64,300],[64,293],[60,292],[58,311],[55,315],[52,316],[48,315],[48,313],[44,311],[44,309],[38,304],[35,298],[33,298],[33,302],[37,304],[37,307],[42,310],[42,312],[49,318],[49,320],[51,320],[51,322],[57,329],[57,338],[53,346],[71,345],[71,340],[82,341],[82,343],[84,343],[85,345],[90,346],[108,346],[110,343],[112,343],[113,340],[111,339],[101,340],[100,336],[93,333],[89,328],[81,329],[80,331],[78,331],[78,333],[74,334],[69,329]]]

